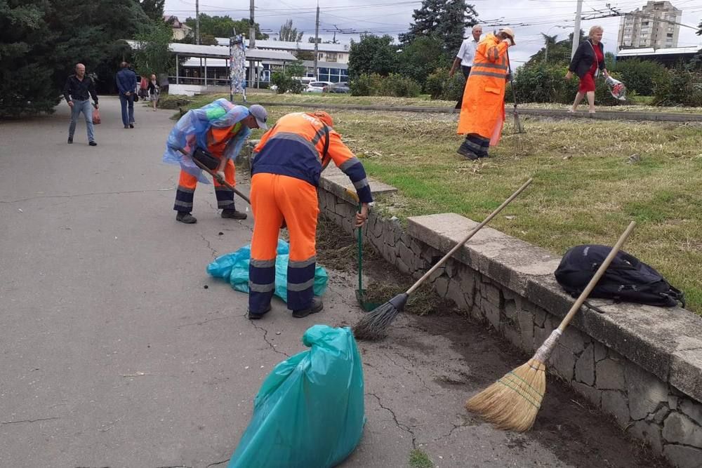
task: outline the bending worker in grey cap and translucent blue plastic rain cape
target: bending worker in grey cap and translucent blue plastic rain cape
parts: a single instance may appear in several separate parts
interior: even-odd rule
[[[185,119],[185,124],[181,126],[180,121],[178,122],[176,128],[171,132],[169,141],[171,138],[178,140],[180,135],[185,135],[183,140],[188,140],[189,146],[206,147],[212,156],[220,160],[216,172],[230,185],[235,185],[236,169],[232,159],[241,149],[244,140],[250,133],[250,128],[267,129],[265,108],[255,104],[247,109],[241,105],[233,105],[225,99],[219,99],[196,110],[198,112],[192,116],[188,114],[183,116],[181,120]],[[188,130],[191,132],[189,133]],[[178,212],[176,220],[189,225],[197,222],[197,219],[190,214],[197,180],[197,176],[192,171],[189,172],[186,168],[181,168],[176,203],[173,209]],[[216,178],[214,185],[217,208],[222,210],[222,218],[245,220],[246,213],[237,211],[234,205],[234,192],[224,185],[220,185]]]

